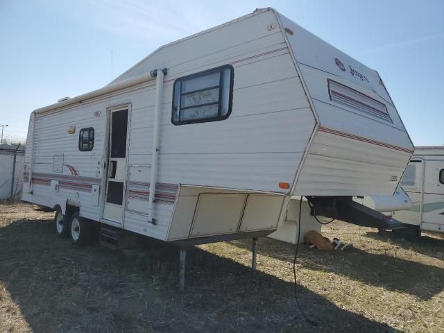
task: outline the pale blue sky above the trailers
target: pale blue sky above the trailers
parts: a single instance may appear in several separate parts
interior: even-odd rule
[[[377,69],[414,144],[444,144],[440,0],[0,0],[0,124],[6,136],[26,137],[36,108],[103,87],[162,44],[267,6]]]

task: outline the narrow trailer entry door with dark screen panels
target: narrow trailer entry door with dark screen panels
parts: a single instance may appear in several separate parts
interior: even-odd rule
[[[110,111],[108,176],[103,219],[123,223],[126,186],[128,108]]]

